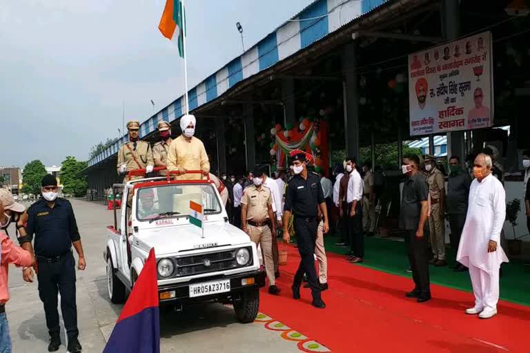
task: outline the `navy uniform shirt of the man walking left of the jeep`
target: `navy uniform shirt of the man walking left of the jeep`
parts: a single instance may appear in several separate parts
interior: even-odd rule
[[[81,239],[70,201],[60,198],[55,200],[54,208],[44,199],[33,203],[28,208],[26,232],[30,239],[35,234],[35,254],[44,257],[66,254],[72,241]]]

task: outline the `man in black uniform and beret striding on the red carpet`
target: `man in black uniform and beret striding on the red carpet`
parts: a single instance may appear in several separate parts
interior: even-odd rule
[[[293,280],[293,298],[300,299],[300,285],[304,274],[307,276],[311,293],[313,294],[313,306],[324,309],[326,304],[320,296],[321,288],[315,272],[315,242],[317,239],[317,208],[320,207],[324,216],[324,233],[329,230],[328,211],[324,192],[320,185],[320,178],[317,174],[307,171],[307,163],[311,156],[301,150],[294,150],[290,153],[293,160],[293,171],[295,176],[289,179],[286,187],[284,205],[284,241],[288,243],[291,236],[288,231],[291,213],[294,216],[294,227],[300,252],[300,265]]]

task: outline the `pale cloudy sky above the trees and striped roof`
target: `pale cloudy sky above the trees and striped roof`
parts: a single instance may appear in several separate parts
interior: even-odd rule
[[[313,0],[188,0],[188,86]],[[165,0],[0,1],[0,165],[87,160],[184,94],[177,48],[158,30]]]

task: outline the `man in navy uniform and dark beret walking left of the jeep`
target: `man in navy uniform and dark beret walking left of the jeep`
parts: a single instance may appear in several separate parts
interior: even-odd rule
[[[35,234],[39,296],[44,304],[46,325],[51,337],[48,351],[55,352],[61,345],[57,311],[57,294],[60,293],[61,312],[68,336],[68,351],[81,352],[81,345],[77,340],[79,330],[75,302],[75,260],[72,254],[72,245],[74,245],[79,255],[77,268],[84,270],[86,263],[81,237],[77,230],[72,205],[66,199],[57,199],[57,179],[48,174],[43,177],[41,184],[43,198],[28,209],[26,228],[28,235],[19,238],[19,241],[31,242]]]

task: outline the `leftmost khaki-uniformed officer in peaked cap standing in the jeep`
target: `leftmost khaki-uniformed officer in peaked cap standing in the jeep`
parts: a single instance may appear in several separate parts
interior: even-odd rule
[[[118,174],[124,176],[124,183],[130,180],[142,179],[141,175],[128,177],[127,172],[136,169],[145,169],[146,172],[153,172],[153,150],[146,141],[139,139],[140,123],[129,121],[127,123],[129,131],[129,141],[120,146],[118,151]]]

